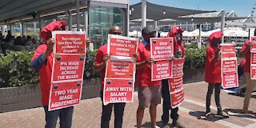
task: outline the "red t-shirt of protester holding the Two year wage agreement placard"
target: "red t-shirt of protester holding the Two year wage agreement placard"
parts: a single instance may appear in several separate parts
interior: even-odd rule
[[[34,52],[34,56],[31,59],[31,62],[34,60],[34,58],[38,58],[38,56],[42,54],[46,49],[47,49],[46,44],[42,44],[38,46],[37,50],[35,50]],[[44,106],[48,106],[48,103],[49,103],[52,67],[53,67],[53,54],[47,57],[46,64],[43,65],[39,70],[39,82],[40,82],[40,88],[42,92],[41,101]]]

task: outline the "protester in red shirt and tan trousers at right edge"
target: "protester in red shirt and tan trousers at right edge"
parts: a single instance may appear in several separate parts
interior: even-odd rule
[[[246,63],[243,66],[243,70],[246,75],[246,95],[245,99],[243,101],[243,108],[242,108],[242,113],[247,114],[248,113],[248,107],[250,104],[250,97],[251,93],[254,90],[255,86],[255,80],[250,79],[250,47],[253,46],[253,42],[250,42],[249,40],[246,41],[243,46],[242,50],[240,51],[239,56],[242,58],[246,58]]]

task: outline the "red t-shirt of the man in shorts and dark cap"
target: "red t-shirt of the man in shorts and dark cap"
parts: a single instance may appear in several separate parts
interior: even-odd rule
[[[138,43],[137,62],[143,62],[147,58],[150,58],[150,45],[144,46],[143,42]],[[151,81],[151,64],[137,69],[136,82],[138,86],[161,86],[161,81]]]

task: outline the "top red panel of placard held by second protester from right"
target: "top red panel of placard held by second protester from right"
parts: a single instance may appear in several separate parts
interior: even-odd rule
[[[222,46],[221,47],[222,58],[235,58],[236,57],[236,50],[234,49],[234,45],[222,44],[221,46]]]

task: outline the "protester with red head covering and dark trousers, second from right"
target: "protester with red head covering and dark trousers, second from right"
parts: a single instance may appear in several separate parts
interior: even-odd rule
[[[206,95],[206,116],[210,115],[210,98],[214,92],[215,103],[218,108],[217,114],[228,118],[229,116],[222,111],[220,102],[220,91],[222,88],[221,78],[221,56],[220,46],[222,42],[222,31],[214,32],[209,36],[210,46],[206,49],[206,66],[205,66],[205,81],[209,83]]]

